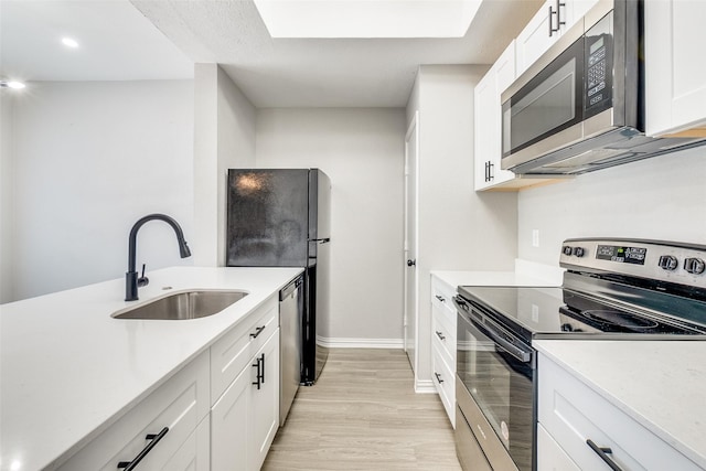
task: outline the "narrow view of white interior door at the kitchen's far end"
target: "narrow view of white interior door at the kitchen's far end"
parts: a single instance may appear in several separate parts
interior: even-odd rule
[[[419,111],[407,129],[405,138],[405,242],[404,242],[404,343],[405,352],[417,368],[417,156],[419,151]]]

